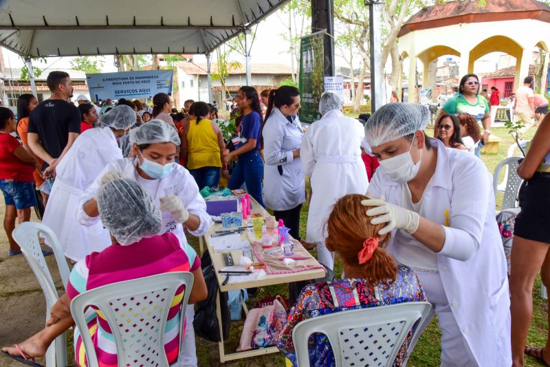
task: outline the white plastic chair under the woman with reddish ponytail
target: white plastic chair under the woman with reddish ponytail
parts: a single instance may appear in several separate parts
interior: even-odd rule
[[[412,330],[414,340],[431,308],[429,302],[405,302],[300,322],[292,331],[298,366],[309,366],[307,341],[312,333],[327,335],[336,367],[392,366],[408,332]]]

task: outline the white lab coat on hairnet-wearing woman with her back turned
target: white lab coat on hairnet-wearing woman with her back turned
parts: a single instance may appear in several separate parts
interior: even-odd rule
[[[361,159],[363,126],[333,110],[309,126],[300,158],[311,179],[311,202],[307,217],[307,242],[325,241],[322,226],[332,206],[346,194],[364,194],[369,186]]]

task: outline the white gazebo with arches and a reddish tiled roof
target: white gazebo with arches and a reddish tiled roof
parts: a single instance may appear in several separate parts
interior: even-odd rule
[[[428,65],[440,56],[461,58],[459,74],[474,72],[474,62],[491,52],[516,58],[514,90],[529,73],[534,47],[548,54],[550,6],[536,0],[455,1],[423,8],[399,31],[399,52],[409,58],[409,85],[416,78],[417,60],[428,78]],[[549,57],[544,58],[542,90],[545,90]],[[432,85],[434,80],[424,80]],[[417,102],[417,93],[409,93]]]

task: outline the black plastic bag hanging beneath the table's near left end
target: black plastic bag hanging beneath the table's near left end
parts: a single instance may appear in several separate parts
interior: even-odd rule
[[[197,311],[193,319],[193,328],[195,334],[203,337],[210,342],[220,342],[219,324],[216,314],[216,296],[219,293],[219,285],[216,277],[216,272],[212,266],[212,259],[208,252],[201,258],[201,268],[206,289],[208,289],[208,297],[197,303]],[[220,293],[221,307],[221,328],[223,330],[223,339],[229,337],[229,327],[231,324],[231,313],[228,306],[228,293]]]

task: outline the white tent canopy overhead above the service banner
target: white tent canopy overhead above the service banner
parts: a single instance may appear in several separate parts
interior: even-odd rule
[[[0,0],[0,45],[21,56],[208,54],[287,0]]]

